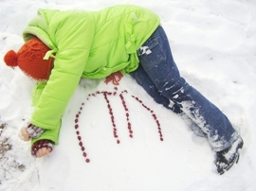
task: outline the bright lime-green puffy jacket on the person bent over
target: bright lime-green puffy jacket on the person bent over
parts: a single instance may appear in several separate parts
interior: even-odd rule
[[[45,58],[55,61],[48,81],[34,91],[30,122],[46,130],[38,139],[57,143],[62,115],[81,78],[136,70],[137,49],[159,23],[152,11],[130,5],[100,11],[39,9],[23,37],[26,42],[38,37],[51,49]]]

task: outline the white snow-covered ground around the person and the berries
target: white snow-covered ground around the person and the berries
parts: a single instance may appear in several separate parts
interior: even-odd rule
[[[34,159],[18,131],[29,120],[34,86],[2,58],[23,44],[21,33],[37,9],[86,9],[130,3],[154,10],[162,20],[174,59],[184,78],[229,116],[245,141],[238,165],[222,176],[214,170],[208,141],[177,115],[155,104],[125,76],[118,90],[100,81],[82,81],[64,113],[60,144],[48,157]],[[256,2],[254,0],[0,0],[0,190],[224,190],[256,189]],[[119,141],[113,136],[114,111]],[[127,91],[127,93],[122,91]],[[123,95],[131,120],[129,137]],[[154,110],[154,118],[137,100]],[[88,100],[86,99],[88,97]],[[79,146],[75,115],[80,110]],[[5,127],[4,124],[7,124]]]

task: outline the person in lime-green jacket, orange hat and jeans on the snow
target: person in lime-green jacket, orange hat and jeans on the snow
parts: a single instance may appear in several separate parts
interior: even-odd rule
[[[25,44],[4,60],[38,80],[30,124],[31,153],[42,157],[57,144],[61,118],[81,78],[129,73],[166,108],[186,115],[208,137],[223,174],[238,161],[243,140],[229,119],[180,77],[160,20],[150,10],[116,6],[100,11],[39,9],[24,30]]]

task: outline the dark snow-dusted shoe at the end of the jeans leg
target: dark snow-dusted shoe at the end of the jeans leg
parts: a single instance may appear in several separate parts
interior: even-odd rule
[[[244,141],[239,138],[229,148],[216,152],[215,165],[217,166],[217,172],[222,175],[239,160],[239,149],[243,148]]]

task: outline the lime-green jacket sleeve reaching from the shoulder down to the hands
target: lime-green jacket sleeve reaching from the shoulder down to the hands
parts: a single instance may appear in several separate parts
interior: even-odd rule
[[[30,122],[46,131],[40,139],[56,142],[65,107],[77,88],[94,36],[94,22],[82,13],[54,16],[48,33],[56,44],[54,68],[32,113]],[[52,131],[53,133],[49,133]]]

